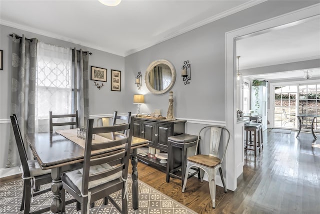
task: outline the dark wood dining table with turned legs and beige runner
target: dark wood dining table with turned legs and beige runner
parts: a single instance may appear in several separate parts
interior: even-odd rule
[[[95,135],[95,141],[115,140],[123,137],[121,133],[103,133]],[[104,139],[103,139],[104,138]],[[38,161],[41,169],[51,169],[51,191],[52,203],[50,206],[52,213],[62,211],[62,180],[63,173],[82,168],[84,158],[85,140],[77,137],[77,129],[58,130],[55,132],[38,132],[25,134],[34,158]],[[132,207],[138,208],[138,172],[137,172],[137,148],[148,145],[148,141],[142,138],[131,138],[130,158],[132,164]],[[91,152],[91,158],[101,154],[114,154],[123,150],[122,146],[110,147]]]

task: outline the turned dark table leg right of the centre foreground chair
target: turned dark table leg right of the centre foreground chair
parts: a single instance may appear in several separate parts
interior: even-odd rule
[[[133,209],[138,208],[138,170],[137,170],[137,148],[133,149],[133,152],[131,154],[131,164],[132,164],[132,207]]]

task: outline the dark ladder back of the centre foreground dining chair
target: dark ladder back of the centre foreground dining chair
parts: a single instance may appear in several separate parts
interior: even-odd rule
[[[83,171],[82,171],[82,185],[81,192],[82,194],[88,193],[88,181],[94,181],[109,175],[112,175],[116,172],[122,171],[122,176],[124,179],[127,177],[128,162],[131,148],[131,138],[133,130],[130,127],[133,127],[130,120],[130,124],[116,124],[114,126],[106,127],[95,127],[93,128],[93,119],[88,119],[86,124],[86,139],[85,139],[85,148],[84,148],[84,161],[83,161]],[[129,136],[126,137],[123,134],[114,134],[114,132],[126,131],[129,129]],[[105,143],[97,143],[92,145],[92,134],[110,134],[115,139]],[[123,146],[123,150],[113,154],[98,155],[98,157],[93,156],[91,158],[91,152],[96,149],[106,149],[113,146]],[[89,176],[90,166],[97,164],[109,164],[112,168],[105,170],[100,173],[95,173]]]

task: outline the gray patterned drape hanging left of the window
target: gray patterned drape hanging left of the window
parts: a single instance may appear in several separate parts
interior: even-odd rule
[[[16,114],[22,136],[34,132],[34,90],[37,39],[12,34],[11,114]],[[24,140],[25,143],[25,140]],[[28,146],[25,145],[27,149]],[[20,164],[13,131],[10,129],[6,167]]]

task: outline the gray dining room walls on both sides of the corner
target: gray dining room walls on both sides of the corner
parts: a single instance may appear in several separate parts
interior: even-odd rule
[[[195,134],[204,124],[225,122],[225,33],[316,3],[319,1],[267,1],[125,58],[1,25],[0,49],[4,54],[4,69],[0,71],[0,168],[5,164],[7,133],[10,129],[8,123],[11,82],[11,57],[8,54],[11,50],[9,34],[24,34],[27,38],[36,37],[45,43],[82,48],[84,51],[92,52],[89,57],[89,65],[106,68],[108,82],[106,86],[98,90],[93,81],[90,81],[90,115],[110,114],[114,110],[135,113],[136,105],[132,104],[132,98],[133,94],[139,93],[145,94],[145,104],[141,105],[141,112],[161,109],[161,113],[165,116],[168,93],[163,95],[149,93],[144,84],[144,74],[152,61],[157,59],[170,61],[177,71],[176,82],[172,88],[174,115],[189,121],[196,120],[194,123],[186,124],[186,132]],[[191,64],[189,85],[184,85],[180,77],[180,68],[185,60],[189,60]],[[111,68],[121,71],[121,92],[110,91]],[[134,84],[134,78],[139,71],[142,73],[143,80],[141,90],[137,90]],[[202,148],[206,149],[205,146]]]

